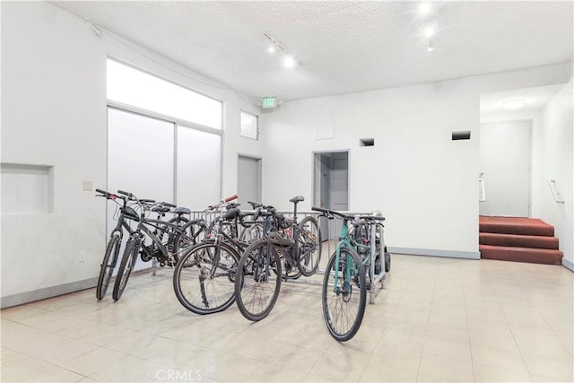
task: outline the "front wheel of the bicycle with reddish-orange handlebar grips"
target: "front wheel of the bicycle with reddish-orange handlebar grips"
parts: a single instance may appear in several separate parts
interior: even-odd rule
[[[196,314],[212,314],[235,301],[237,252],[225,243],[203,242],[189,248],[176,265],[173,290],[179,303]]]

